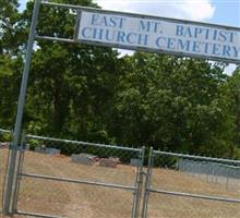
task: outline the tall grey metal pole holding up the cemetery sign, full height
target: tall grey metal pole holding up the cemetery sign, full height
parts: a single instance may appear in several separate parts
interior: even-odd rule
[[[24,109],[24,104],[25,104],[27,80],[28,80],[28,74],[29,74],[31,58],[33,53],[36,23],[37,23],[37,17],[39,14],[39,8],[40,8],[40,0],[35,0],[28,43],[27,43],[26,57],[25,57],[25,64],[24,64],[23,76],[22,76],[20,97],[19,97],[19,102],[17,102],[17,113],[16,113],[16,120],[15,120],[15,126],[14,126],[13,144],[11,148],[12,150],[10,155],[10,166],[8,169],[8,183],[7,183],[5,194],[4,194],[4,207],[3,207],[4,215],[11,214],[10,205],[12,201],[12,190],[13,190],[14,178],[15,178],[17,144],[20,141],[20,135],[21,135],[23,109]]]

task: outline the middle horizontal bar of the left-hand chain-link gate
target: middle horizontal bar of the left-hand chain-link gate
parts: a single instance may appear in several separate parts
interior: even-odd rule
[[[31,173],[22,173],[20,174],[20,177],[21,175],[27,177],[27,178],[53,180],[53,181],[59,181],[59,182],[71,182],[71,183],[79,183],[79,184],[89,184],[89,185],[105,186],[105,187],[112,187],[112,189],[120,189],[120,190],[130,190],[130,191],[136,190],[136,187],[134,186],[128,186],[128,185],[121,185],[121,184],[109,184],[109,183],[104,183],[104,182],[92,182],[92,181],[86,181],[86,180],[73,180],[73,179],[67,179],[67,178],[57,178],[57,177],[31,174]]]

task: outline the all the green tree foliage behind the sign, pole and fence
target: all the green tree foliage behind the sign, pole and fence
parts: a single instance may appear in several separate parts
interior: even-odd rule
[[[58,2],[97,7],[91,0]],[[33,2],[23,13],[16,1],[0,3],[0,126],[12,129]],[[73,38],[74,24],[75,11],[41,7],[37,34]],[[111,48],[37,40],[24,129],[56,137],[239,158],[240,69],[227,76],[225,66],[143,52],[119,58]],[[72,146],[70,153],[77,149]]]

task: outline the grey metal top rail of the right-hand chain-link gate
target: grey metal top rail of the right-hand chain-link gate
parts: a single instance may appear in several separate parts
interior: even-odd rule
[[[207,160],[207,161],[214,161],[214,162],[225,162],[225,164],[240,165],[240,160],[232,160],[232,159],[225,159],[225,158],[194,156],[194,155],[168,153],[168,152],[161,152],[161,150],[153,150],[153,153],[155,155],[166,155],[166,156],[181,157],[181,158],[188,158],[188,159],[197,159],[197,160]]]

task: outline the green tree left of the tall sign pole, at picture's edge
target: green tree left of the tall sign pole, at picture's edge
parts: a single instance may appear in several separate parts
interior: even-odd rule
[[[16,0],[1,0],[0,4],[0,125],[12,129],[22,69],[20,14]]]

